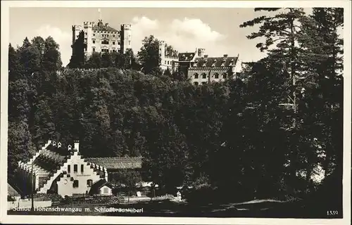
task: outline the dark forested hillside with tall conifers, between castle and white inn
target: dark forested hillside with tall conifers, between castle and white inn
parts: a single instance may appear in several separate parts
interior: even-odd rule
[[[265,37],[258,48],[268,57],[239,79],[203,86],[133,70],[131,58],[65,70],[51,37],[10,45],[8,176],[48,139],[80,140],[86,157],[142,155],[160,186],[256,198],[314,191],[325,181],[314,175],[342,175],[342,16],[338,8],[311,16],[294,8],[244,23],[260,24],[249,38]],[[151,65],[147,53],[137,54],[142,65]],[[103,65],[93,59],[88,68]],[[295,108],[282,105],[290,98]]]

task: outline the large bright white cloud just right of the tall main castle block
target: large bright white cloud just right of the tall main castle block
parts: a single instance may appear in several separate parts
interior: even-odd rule
[[[151,20],[146,17],[132,20],[132,49],[137,53],[142,39],[153,34],[159,40],[166,41],[177,51],[195,51],[206,49],[210,56],[227,53],[226,35],[213,30],[208,24],[197,18],[174,19],[172,21]]]

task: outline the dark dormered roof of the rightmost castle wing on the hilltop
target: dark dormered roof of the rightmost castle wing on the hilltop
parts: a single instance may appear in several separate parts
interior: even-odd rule
[[[207,57],[196,58],[194,67],[228,67],[235,66],[238,57]]]

